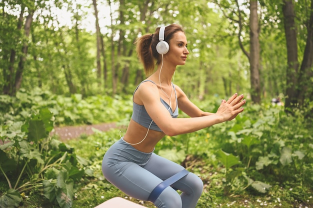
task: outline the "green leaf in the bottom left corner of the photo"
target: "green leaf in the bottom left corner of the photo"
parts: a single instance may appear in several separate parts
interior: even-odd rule
[[[22,201],[20,193],[12,188],[9,188],[6,193],[0,196],[0,208],[15,208]]]

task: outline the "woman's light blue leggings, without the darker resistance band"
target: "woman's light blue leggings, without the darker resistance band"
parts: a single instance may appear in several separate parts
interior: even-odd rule
[[[147,200],[151,191],[163,180],[181,171],[183,166],[155,153],[141,152],[122,139],[104,154],[104,177],[127,195]],[[173,188],[180,190],[179,195]],[[158,208],[194,208],[203,189],[202,180],[189,172],[166,187],[154,205]]]

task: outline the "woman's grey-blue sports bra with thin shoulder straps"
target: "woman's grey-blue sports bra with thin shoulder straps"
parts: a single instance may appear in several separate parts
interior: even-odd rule
[[[151,81],[151,80],[143,80],[142,82],[145,81]],[[135,91],[137,90],[137,88],[139,87],[139,85],[142,83],[140,82],[138,84],[138,86],[136,87],[136,89],[134,90],[133,94],[135,93]],[[155,84],[153,81],[151,81],[153,84]],[[177,103],[177,95],[176,95],[176,90],[174,87],[174,84],[172,84],[173,88],[174,88],[174,93],[175,93],[175,98],[176,98],[176,103]],[[132,100],[133,100],[133,95],[132,95]],[[167,104],[162,98],[160,98],[161,103],[166,107],[166,109],[168,109],[168,112],[170,113],[171,117],[177,117],[178,116],[178,106],[176,104],[176,108],[174,110],[174,112],[172,111],[171,107],[169,106],[169,104]],[[135,103],[134,101],[132,101],[133,106],[132,106],[132,115],[131,115],[131,119],[133,119],[135,122],[137,122],[138,124],[149,128],[150,125],[150,129],[152,130],[157,130],[157,131],[162,131],[156,124],[154,121],[152,121],[151,117],[148,115],[148,113],[146,112],[145,108],[143,105],[139,105],[137,103]]]

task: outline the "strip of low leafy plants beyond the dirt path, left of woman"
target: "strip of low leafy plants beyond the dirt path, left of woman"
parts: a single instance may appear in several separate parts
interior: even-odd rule
[[[47,108],[54,115],[55,125],[77,125],[112,122],[131,113],[131,96],[55,95],[39,88],[20,89],[16,97],[0,95],[0,123],[25,121],[29,114]],[[123,113],[119,113],[119,112]]]

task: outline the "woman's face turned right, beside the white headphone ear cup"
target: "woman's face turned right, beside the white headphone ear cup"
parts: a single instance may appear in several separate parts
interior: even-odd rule
[[[164,59],[172,62],[175,65],[184,65],[186,63],[187,54],[187,38],[182,31],[178,31],[173,34],[173,37],[169,40],[169,50],[164,55]]]

